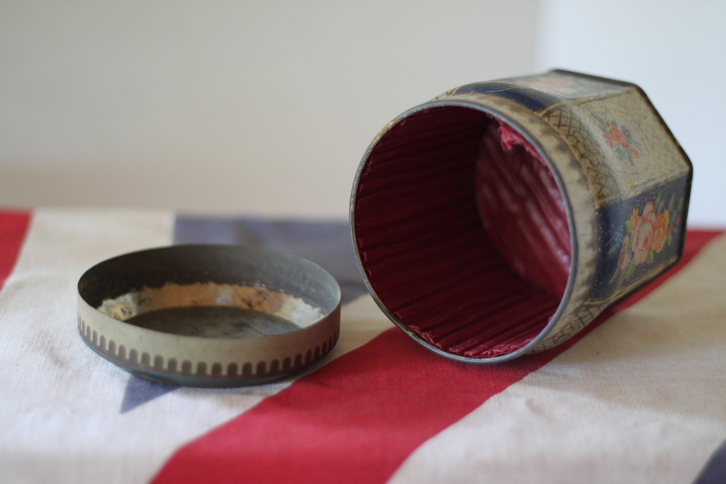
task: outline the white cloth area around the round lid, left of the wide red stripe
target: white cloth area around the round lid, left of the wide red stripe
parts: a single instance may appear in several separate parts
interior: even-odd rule
[[[179,388],[121,413],[130,376],[83,343],[76,285],[92,265],[171,243],[165,211],[35,211],[0,291],[0,481],[144,483],[179,447],[290,385]],[[336,358],[391,326],[369,296],[343,308]],[[299,377],[299,376],[298,376]]]

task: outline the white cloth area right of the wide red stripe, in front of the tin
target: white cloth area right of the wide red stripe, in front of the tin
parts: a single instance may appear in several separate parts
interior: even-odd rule
[[[726,236],[421,445],[393,483],[690,483],[726,438]]]

